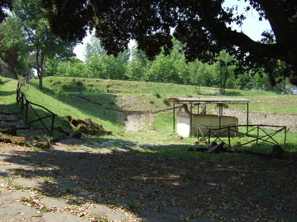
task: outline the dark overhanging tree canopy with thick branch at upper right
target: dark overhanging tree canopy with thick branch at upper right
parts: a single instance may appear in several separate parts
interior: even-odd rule
[[[241,24],[244,15],[236,15],[236,7],[223,8],[224,0],[43,0],[50,9],[53,31],[68,40],[81,41],[87,27],[96,29],[96,36],[109,54],[123,52],[130,39],[153,59],[161,48],[169,53],[173,35],[184,44],[187,61],[198,58],[209,62],[224,49],[238,61],[238,67],[281,60],[290,72],[285,75],[297,83],[297,1],[249,0],[259,19],[270,22],[274,42],[253,41],[243,32],[228,27]],[[247,1],[247,0],[245,0]],[[236,47],[235,47],[236,46]],[[266,62],[268,64],[268,62]]]

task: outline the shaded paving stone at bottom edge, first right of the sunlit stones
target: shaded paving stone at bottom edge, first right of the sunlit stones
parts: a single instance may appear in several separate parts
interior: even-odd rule
[[[145,218],[146,222],[179,222],[180,219],[176,215],[161,213],[154,210],[141,210],[140,216]]]

